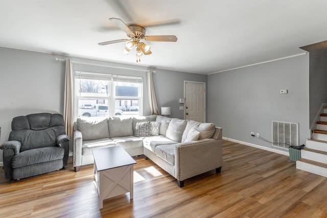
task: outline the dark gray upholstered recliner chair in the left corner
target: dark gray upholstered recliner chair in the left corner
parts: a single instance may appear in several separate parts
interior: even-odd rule
[[[6,179],[56,171],[67,164],[69,138],[60,114],[14,117],[9,139],[0,146]]]

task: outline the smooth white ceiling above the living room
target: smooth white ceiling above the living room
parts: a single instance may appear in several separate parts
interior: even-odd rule
[[[327,40],[325,0],[2,0],[0,46],[136,65],[123,54],[127,38],[110,17],[149,26],[150,42],[137,65],[199,74],[303,53]]]

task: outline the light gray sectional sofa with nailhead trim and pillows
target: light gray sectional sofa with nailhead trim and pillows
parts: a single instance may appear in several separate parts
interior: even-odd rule
[[[210,123],[160,115],[82,117],[74,124],[74,168],[94,162],[93,149],[121,146],[184,180],[222,166],[222,128]]]

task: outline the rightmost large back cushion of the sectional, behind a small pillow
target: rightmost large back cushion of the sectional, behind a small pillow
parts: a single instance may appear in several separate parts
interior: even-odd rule
[[[216,130],[215,124],[212,123],[199,123],[194,120],[188,120],[188,125],[183,132],[182,141],[185,142],[186,137],[191,129],[196,129],[200,132],[199,139],[211,138]]]

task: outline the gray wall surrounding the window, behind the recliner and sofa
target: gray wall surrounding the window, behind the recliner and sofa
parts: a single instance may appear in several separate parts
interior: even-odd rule
[[[0,47],[0,127],[2,128],[0,144],[8,140],[11,131],[11,120],[15,116],[38,112],[63,114],[65,61],[55,61],[56,57],[60,59],[67,58],[66,56]],[[72,60],[89,64],[148,69],[136,65],[131,66],[74,57]],[[143,112],[144,115],[150,113],[145,71],[79,63],[73,63],[73,68],[74,70],[143,77],[145,90]],[[155,71],[153,82],[156,86],[158,107],[171,106],[171,117],[183,118],[183,112],[179,111],[177,100],[183,97],[184,80],[206,82],[207,76],[161,69],[155,69]],[[0,150],[0,162],[2,160],[2,150]]]

